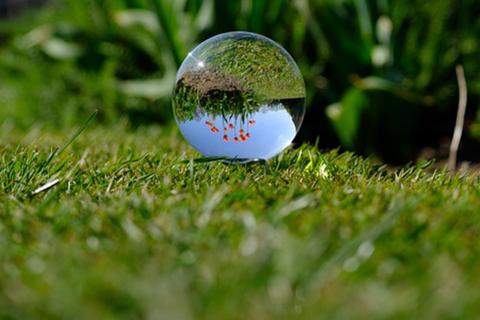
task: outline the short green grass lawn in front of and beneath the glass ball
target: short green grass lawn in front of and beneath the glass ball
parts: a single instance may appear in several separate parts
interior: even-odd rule
[[[480,312],[476,176],[311,146],[185,163],[176,129],[121,123],[53,153],[72,134],[0,129],[1,319]]]

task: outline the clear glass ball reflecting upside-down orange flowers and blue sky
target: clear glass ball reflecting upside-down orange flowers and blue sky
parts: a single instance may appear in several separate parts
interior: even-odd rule
[[[267,160],[288,147],[305,113],[300,70],[276,42],[249,32],[212,37],[178,73],[175,119],[205,157]]]

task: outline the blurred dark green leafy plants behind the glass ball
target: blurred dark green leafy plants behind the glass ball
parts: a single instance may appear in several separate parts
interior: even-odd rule
[[[63,130],[96,109],[105,124],[171,126],[187,52],[248,30],[279,42],[302,70],[308,109],[298,142],[394,164],[446,156],[462,64],[469,102],[460,157],[480,160],[478,0],[23,2],[20,10],[22,1],[0,0],[2,126]]]

